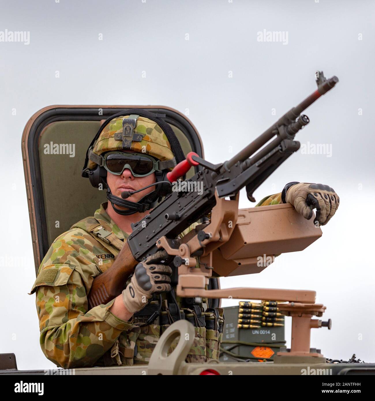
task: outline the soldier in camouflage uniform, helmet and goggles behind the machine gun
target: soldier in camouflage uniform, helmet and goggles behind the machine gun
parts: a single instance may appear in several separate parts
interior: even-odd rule
[[[170,185],[162,181],[182,158],[178,140],[159,115],[133,109],[102,124],[87,151],[83,176],[95,187],[104,186],[109,202],[55,239],[31,291],[36,292],[41,348],[56,365],[148,363],[163,330],[179,318],[195,325],[187,362],[219,358],[223,310],[207,308],[206,299],[175,296],[172,269],[158,253],[136,266],[114,300],[93,308],[87,300],[94,277],[116,264],[131,223],[168,194]],[[124,191],[137,190],[127,199],[121,197]],[[257,206],[286,202],[306,219],[317,208],[317,219],[324,225],[339,198],[328,186],[291,182]]]

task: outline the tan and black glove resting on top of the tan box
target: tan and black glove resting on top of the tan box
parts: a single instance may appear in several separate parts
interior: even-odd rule
[[[334,190],[323,184],[311,182],[290,182],[282,191],[282,202],[291,203],[305,219],[311,219],[312,209],[316,208],[316,221],[325,225],[339,207],[340,199]]]

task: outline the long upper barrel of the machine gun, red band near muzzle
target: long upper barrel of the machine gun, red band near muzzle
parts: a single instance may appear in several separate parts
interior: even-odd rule
[[[314,101],[319,99],[320,96],[324,95],[324,93],[327,93],[330,89],[336,85],[336,83],[339,82],[339,78],[336,76],[326,79],[324,82],[320,83],[318,85],[318,89],[314,93],[312,93],[310,96],[306,97],[301,103],[299,103],[296,107],[293,107],[290,109],[287,113],[285,113],[279,120],[268,128],[268,130],[264,131],[263,134],[258,136],[253,142],[251,142],[249,145],[247,145],[243,150],[238,152],[235,156],[233,156],[228,162],[227,162],[227,167],[231,167],[234,164],[236,164],[238,161],[244,161],[248,159],[252,154],[254,154],[257,150],[259,150],[264,144],[266,144],[273,136],[275,136],[278,131],[277,128],[280,125],[288,125],[294,120],[299,117],[299,115],[307,109]]]

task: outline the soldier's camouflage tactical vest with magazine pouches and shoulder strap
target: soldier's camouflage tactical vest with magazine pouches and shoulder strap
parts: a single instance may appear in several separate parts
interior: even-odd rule
[[[124,245],[121,239],[103,229],[93,217],[87,217],[71,228],[87,231],[115,256]],[[104,272],[110,266],[108,263],[102,264],[99,269]],[[175,287],[172,286],[170,293],[155,295],[144,309],[136,312],[130,321],[132,328],[120,334],[111,350],[99,358],[95,366],[147,364],[162,333],[180,318],[189,320],[195,327],[195,339],[186,362],[219,360],[224,326],[223,308],[208,308],[207,299],[180,298],[175,296],[174,291]],[[174,350],[177,342],[178,338],[170,346],[168,354]]]

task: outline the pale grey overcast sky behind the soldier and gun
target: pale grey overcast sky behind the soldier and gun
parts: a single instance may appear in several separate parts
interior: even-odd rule
[[[332,330],[312,329],[311,346],[328,358],[375,362],[374,8],[343,0],[2,1],[0,353],[14,352],[18,369],[53,367],[27,295],[35,271],[20,144],[33,113],[52,104],[166,105],[188,114],[205,158],[218,163],[312,93],[319,69],[340,82],[306,111],[310,124],[297,139],[326,151],[293,155],[255,198],[290,181],[321,182],[339,194],[340,208],[306,250],[221,286],[316,290]],[[6,30],[28,34],[5,42]],[[261,41],[265,31],[282,32],[281,41]],[[251,205],[241,194],[240,206]],[[22,263],[7,263],[14,256]],[[290,318],[286,336],[290,345]]]

